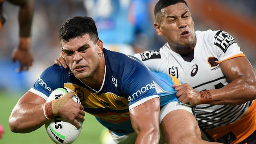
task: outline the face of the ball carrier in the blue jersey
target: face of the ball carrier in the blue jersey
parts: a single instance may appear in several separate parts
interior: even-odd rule
[[[61,41],[62,52],[70,70],[78,79],[92,78],[99,69],[103,43],[98,40],[95,44],[88,34]]]

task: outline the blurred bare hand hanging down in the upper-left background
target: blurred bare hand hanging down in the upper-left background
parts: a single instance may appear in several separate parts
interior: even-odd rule
[[[30,51],[30,37],[20,37],[20,44],[18,48],[15,48],[11,54],[13,62],[17,60],[20,62],[20,67],[17,68],[17,72],[22,70],[29,70],[33,63],[32,53]]]

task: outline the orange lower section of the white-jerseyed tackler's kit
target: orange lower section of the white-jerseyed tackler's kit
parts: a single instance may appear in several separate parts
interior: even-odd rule
[[[249,137],[256,130],[256,102],[247,109],[247,113],[237,122],[227,126],[217,127],[215,129],[206,130],[211,137],[217,139],[223,137],[230,131],[236,135],[236,140],[230,144],[239,144]]]

